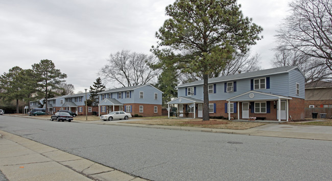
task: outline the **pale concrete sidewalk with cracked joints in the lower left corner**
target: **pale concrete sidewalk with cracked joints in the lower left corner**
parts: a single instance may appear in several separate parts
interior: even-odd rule
[[[0,135],[1,180],[145,180],[7,132]]]

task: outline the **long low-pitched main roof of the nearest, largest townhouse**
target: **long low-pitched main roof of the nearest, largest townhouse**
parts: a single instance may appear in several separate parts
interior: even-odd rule
[[[238,74],[233,74],[233,75],[214,77],[214,78],[208,79],[208,83],[211,84],[211,83],[217,83],[217,82],[226,82],[226,81],[234,81],[234,80],[239,80],[239,79],[247,79],[249,77],[258,77],[258,76],[267,76],[267,75],[273,75],[273,74],[279,74],[279,73],[288,73],[294,69],[297,69],[298,71],[301,72],[301,70],[297,66],[277,67],[277,68],[257,70],[257,71],[253,71],[253,72],[247,72],[247,73],[238,73]],[[302,75],[304,76],[303,73],[302,73]],[[182,84],[180,86],[176,86],[176,88],[187,87],[187,86],[196,86],[196,85],[203,85],[203,80]]]

